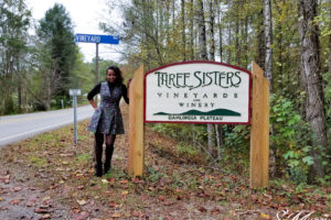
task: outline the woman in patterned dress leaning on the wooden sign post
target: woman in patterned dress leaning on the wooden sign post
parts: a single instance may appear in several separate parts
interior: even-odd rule
[[[87,95],[95,112],[90,119],[88,131],[95,133],[95,176],[103,176],[110,170],[111,156],[116,134],[124,134],[124,124],[119,109],[120,98],[129,103],[127,87],[122,84],[121,72],[117,66],[109,66],[106,81],[96,85]],[[97,107],[94,96],[100,94],[100,105]],[[103,144],[106,138],[105,163],[103,166]]]

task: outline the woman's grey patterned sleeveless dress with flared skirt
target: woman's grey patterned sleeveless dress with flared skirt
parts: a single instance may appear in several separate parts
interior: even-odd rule
[[[119,109],[119,101],[122,96],[121,86],[115,85],[110,94],[108,82],[102,82],[100,105],[90,119],[88,131],[103,134],[125,133]]]

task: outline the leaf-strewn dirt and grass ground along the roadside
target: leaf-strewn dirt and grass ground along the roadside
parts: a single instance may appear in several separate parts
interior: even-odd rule
[[[128,108],[122,107],[126,131]],[[128,138],[118,135],[111,174],[93,170],[93,134],[79,123],[0,150],[0,219],[330,219],[330,187],[273,183],[250,189],[231,174],[175,152],[177,143],[146,128],[145,175],[127,174]],[[290,216],[292,215],[292,217]]]

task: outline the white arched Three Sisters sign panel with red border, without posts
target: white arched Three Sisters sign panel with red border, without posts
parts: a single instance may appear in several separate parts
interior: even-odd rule
[[[249,124],[246,69],[215,62],[184,62],[145,75],[145,122]]]

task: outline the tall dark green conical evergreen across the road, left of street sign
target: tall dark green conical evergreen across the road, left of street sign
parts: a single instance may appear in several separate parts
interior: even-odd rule
[[[78,54],[73,32],[70,14],[62,4],[55,3],[40,20],[38,36],[44,51],[41,54],[46,68],[44,74],[55,73],[55,77],[50,79],[56,87],[53,95],[68,96],[70,74]]]

